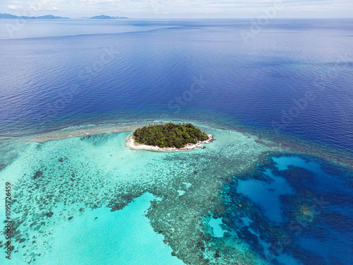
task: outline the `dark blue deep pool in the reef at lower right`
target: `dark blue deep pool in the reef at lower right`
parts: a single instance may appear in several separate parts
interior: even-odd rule
[[[352,172],[280,155],[237,176],[225,193],[229,229],[265,264],[353,264]]]

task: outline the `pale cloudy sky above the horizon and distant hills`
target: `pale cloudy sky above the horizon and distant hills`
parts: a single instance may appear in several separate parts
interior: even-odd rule
[[[17,16],[130,18],[353,18],[353,0],[1,0]]]

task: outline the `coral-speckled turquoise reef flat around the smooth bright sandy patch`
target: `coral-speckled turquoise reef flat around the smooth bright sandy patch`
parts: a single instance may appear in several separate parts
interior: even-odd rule
[[[40,264],[49,252],[59,255],[52,235],[62,225],[90,209],[119,211],[148,192],[159,198],[151,198],[146,212],[150,225],[185,264],[263,262],[248,241],[225,227],[224,191],[234,176],[268,161],[268,154],[297,150],[246,132],[205,129],[217,137],[208,152],[136,152],[125,147],[131,132],[28,143],[0,172],[1,184],[12,179],[15,190],[14,259]],[[251,210],[244,201],[235,203],[239,212]],[[210,232],[210,218],[220,217],[224,237]]]

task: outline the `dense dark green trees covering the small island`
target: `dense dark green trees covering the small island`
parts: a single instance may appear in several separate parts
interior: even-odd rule
[[[138,128],[133,132],[137,143],[159,147],[185,147],[186,143],[197,143],[208,140],[205,131],[196,128],[191,123],[186,124],[154,124]]]

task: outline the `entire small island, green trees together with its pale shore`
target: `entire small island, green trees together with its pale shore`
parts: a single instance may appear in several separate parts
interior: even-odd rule
[[[178,151],[205,148],[201,143],[214,141],[213,136],[196,128],[191,123],[150,124],[138,128],[128,137],[127,146],[131,149],[152,151]]]

